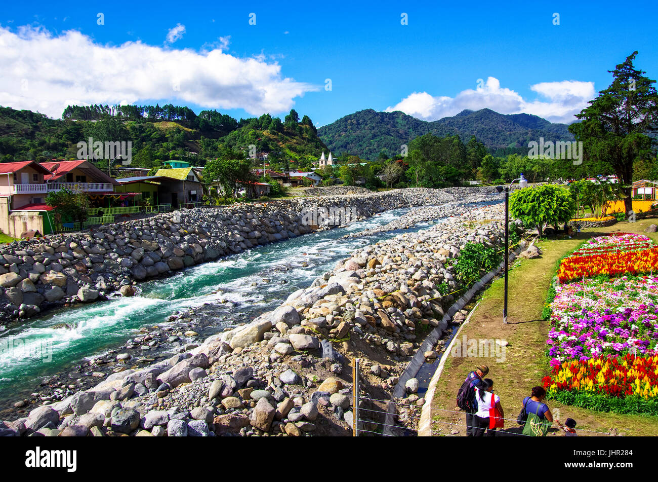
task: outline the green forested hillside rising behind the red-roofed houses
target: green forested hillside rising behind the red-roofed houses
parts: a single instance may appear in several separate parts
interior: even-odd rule
[[[0,107],[0,161],[74,159],[76,144],[132,141],[133,167],[157,167],[181,159],[203,164],[227,147],[247,153],[270,152],[271,158],[309,166],[327,149],[308,116],[292,110],[284,121],[269,114],[239,121],[217,111],[196,115],[174,105],[69,106],[63,119]]]

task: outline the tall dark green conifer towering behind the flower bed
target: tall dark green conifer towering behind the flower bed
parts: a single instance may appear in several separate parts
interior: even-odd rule
[[[582,141],[588,160],[608,163],[625,194],[626,215],[632,210],[633,165],[651,155],[651,134],[658,131],[658,94],[643,70],[633,67],[635,51],[617,65],[613,83],[590,101],[569,126]]]

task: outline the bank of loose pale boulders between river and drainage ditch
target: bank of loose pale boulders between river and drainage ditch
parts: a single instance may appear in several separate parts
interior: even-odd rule
[[[407,362],[457,288],[453,261],[467,242],[500,246],[501,205],[365,246],[309,288],[251,323],[135,371],[124,368],[59,402],[26,407],[4,435],[349,435],[351,358],[361,358],[365,429],[385,412]],[[459,295],[455,295],[459,296]],[[417,385],[416,385],[417,387]],[[414,391],[414,385],[408,387]],[[411,394],[407,403],[422,405]],[[25,403],[25,402],[19,402]],[[370,421],[368,421],[370,420]]]

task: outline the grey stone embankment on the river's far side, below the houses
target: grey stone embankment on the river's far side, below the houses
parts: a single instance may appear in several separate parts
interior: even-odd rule
[[[462,196],[472,194],[471,188],[464,189]],[[0,248],[0,323],[102,300],[115,291],[130,296],[136,282],[322,228],[307,222],[316,218],[305,217],[318,206],[355,209],[363,219],[388,209],[445,203],[454,196],[455,190],[405,189],[196,208],[14,242]]]

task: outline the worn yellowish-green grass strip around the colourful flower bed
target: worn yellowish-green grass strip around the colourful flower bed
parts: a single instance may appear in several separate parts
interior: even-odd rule
[[[645,227],[655,223],[655,219],[645,219],[637,223],[624,221],[610,227],[582,230],[572,239],[546,240],[539,243],[538,246],[544,252],[541,257],[515,261],[515,267],[509,271],[507,325],[503,325],[502,321],[503,278],[493,281],[484,292],[470,322],[459,333],[459,339],[466,335],[467,339],[507,340],[509,345],[505,347],[505,360],[497,362],[495,357],[447,356],[432,401],[434,435],[466,435],[465,415],[448,411],[458,410],[455,402],[457,390],[468,372],[483,363],[489,366],[487,377],[494,382],[493,391],[501,398],[505,418],[511,419],[505,421],[503,430],[511,429],[518,433],[520,425],[514,420],[519,415],[523,398],[530,395],[532,387],[542,385],[542,378],[550,372],[549,359],[544,355],[548,321],[542,320],[542,309],[557,261],[572,252],[583,240],[613,231],[640,232],[658,243],[657,233],[643,232]],[[613,430],[613,433],[619,435],[655,435],[658,432],[658,417],[594,412],[586,408],[559,404],[554,400],[545,402],[551,410],[559,409],[559,420],[562,423],[568,417],[576,420],[579,437],[601,435],[585,430],[605,433]],[[557,427],[557,424],[554,423],[553,427]],[[553,427],[549,437],[564,435]]]

